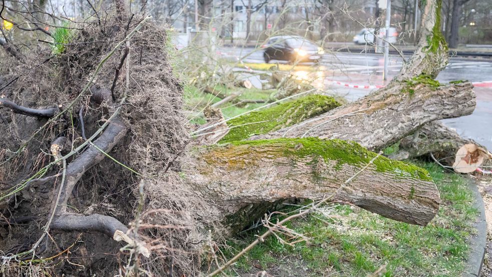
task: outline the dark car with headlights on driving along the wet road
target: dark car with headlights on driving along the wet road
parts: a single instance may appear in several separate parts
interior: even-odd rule
[[[263,59],[268,64],[271,60],[319,63],[324,51],[321,47],[302,37],[272,37],[264,46]]]

